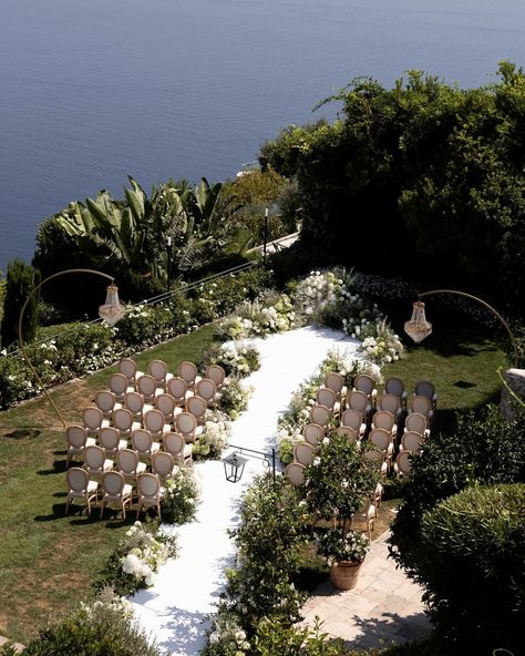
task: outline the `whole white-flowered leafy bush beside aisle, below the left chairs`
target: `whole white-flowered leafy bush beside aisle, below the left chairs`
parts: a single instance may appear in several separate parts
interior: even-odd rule
[[[141,522],[135,522],[107,558],[94,587],[111,587],[117,595],[151,587],[158,567],[175,555],[175,537],[154,534],[153,526],[143,529]]]

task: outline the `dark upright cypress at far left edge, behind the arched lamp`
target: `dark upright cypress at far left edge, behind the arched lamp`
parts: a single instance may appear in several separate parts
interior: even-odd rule
[[[1,322],[1,344],[4,348],[13,341],[18,341],[18,324],[22,306],[39,280],[40,276],[37,271],[21,259],[13,259],[9,263]],[[37,334],[38,303],[39,297],[35,294],[25,307],[22,321],[24,342],[32,341]]]

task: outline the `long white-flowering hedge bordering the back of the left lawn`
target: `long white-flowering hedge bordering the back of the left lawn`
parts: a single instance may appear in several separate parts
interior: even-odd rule
[[[181,289],[166,303],[133,306],[114,328],[83,322],[43,328],[38,335],[43,341],[28,346],[28,352],[43,383],[59,385],[212,321],[255,298],[270,280],[270,273],[254,268],[187,294]],[[21,355],[0,358],[0,410],[39,392]]]

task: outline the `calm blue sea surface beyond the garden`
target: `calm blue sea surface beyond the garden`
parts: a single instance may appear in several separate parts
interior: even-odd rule
[[[477,86],[525,64],[525,0],[0,0],[0,268],[126,175],[234,176],[357,75]]]

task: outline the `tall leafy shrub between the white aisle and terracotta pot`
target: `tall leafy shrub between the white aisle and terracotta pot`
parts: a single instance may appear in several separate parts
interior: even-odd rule
[[[262,617],[298,618],[302,601],[290,577],[300,566],[306,544],[297,491],[284,476],[259,476],[231,531],[238,566],[228,572],[224,604],[249,629]]]

